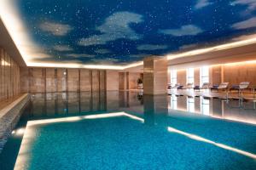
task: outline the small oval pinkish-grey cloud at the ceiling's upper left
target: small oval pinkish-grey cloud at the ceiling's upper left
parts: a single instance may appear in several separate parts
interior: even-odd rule
[[[47,31],[54,36],[65,36],[69,31],[73,30],[72,26],[48,21],[41,23],[39,28],[42,31]]]

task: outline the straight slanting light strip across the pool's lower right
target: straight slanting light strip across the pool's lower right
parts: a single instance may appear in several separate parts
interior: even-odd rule
[[[216,142],[214,142],[212,140],[202,138],[202,137],[197,136],[197,135],[192,134],[192,133],[185,133],[185,132],[183,132],[181,130],[177,130],[176,128],[173,128],[173,127],[168,127],[167,129],[171,133],[178,133],[178,134],[181,134],[183,136],[188,137],[189,139],[195,139],[195,140],[198,140],[198,141],[201,141],[201,142],[205,142],[207,144],[213,144],[215,146],[218,146],[219,148],[223,148],[225,150],[234,151],[234,152],[236,152],[238,154],[241,154],[243,156],[248,156],[248,157],[251,157],[253,159],[256,159],[256,155],[253,154],[253,153],[250,153],[250,152],[247,152],[247,151],[244,151],[244,150],[239,150],[239,149],[236,149],[236,148],[231,147],[231,146],[226,145],[226,144],[216,143]]]

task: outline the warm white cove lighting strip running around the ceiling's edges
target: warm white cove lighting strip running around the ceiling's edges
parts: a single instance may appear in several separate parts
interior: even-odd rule
[[[40,67],[61,67],[61,68],[87,68],[87,69],[107,69],[107,70],[125,70],[131,67],[143,65],[143,61],[133,63],[131,65],[83,65],[76,61],[70,63],[37,63],[33,59],[44,59],[49,57],[47,54],[42,52],[40,47],[37,47],[33,42],[32,38],[27,34],[26,26],[20,19],[20,14],[15,6],[15,0],[2,0],[0,5],[0,18],[10,36],[15,42],[16,47],[20,51],[22,58],[25,60],[27,66],[40,66]],[[256,43],[256,37],[247,37],[245,40],[225,43],[222,45],[214,46],[211,48],[201,48],[191,50],[189,52],[179,53],[179,54],[167,54],[168,60],[177,59],[182,57],[194,56],[197,54],[205,54],[213,51],[219,51],[229,48],[241,47],[249,44]]]

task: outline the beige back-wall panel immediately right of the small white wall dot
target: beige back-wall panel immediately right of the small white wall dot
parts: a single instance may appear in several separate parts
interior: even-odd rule
[[[67,69],[67,91],[79,91],[79,69]]]

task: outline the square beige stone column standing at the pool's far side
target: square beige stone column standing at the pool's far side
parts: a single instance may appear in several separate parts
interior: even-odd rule
[[[167,59],[148,57],[143,60],[143,94],[167,94]]]

